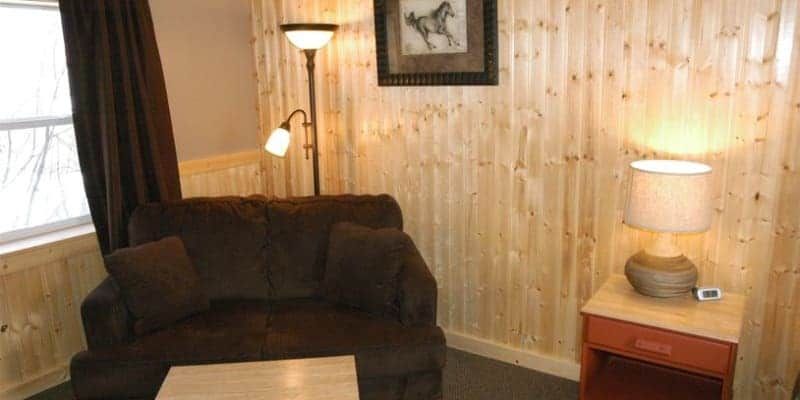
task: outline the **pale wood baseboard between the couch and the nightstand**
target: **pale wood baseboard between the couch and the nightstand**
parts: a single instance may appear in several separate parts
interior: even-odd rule
[[[575,382],[580,379],[581,366],[574,361],[517,349],[463,333],[445,331],[445,336],[447,337],[447,345],[454,349],[509,364],[519,365],[520,367],[544,372]]]

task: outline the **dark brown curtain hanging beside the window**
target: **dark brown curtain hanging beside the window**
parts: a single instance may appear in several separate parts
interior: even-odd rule
[[[146,0],[61,0],[73,120],[104,254],[139,204],[180,199],[164,74]]]

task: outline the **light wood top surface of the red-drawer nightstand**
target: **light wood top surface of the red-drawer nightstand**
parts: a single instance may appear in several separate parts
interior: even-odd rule
[[[739,343],[744,296],[697,301],[691,294],[669,299],[637,293],[623,275],[611,275],[581,312],[670,331]]]

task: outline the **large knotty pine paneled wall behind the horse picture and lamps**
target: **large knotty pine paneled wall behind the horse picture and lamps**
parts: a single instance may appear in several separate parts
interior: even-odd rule
[[[712,165],[713,226],[681,245],[702,283],[748,296],[737,397],[787,398],[800,368],[798,2],[498,10],[500,86],[389,88],[372,0],[253,0],[263,134],[307,104],[305,60],[278,25],[340,24],[317,56],[323,192],[400,201],[449,332],[569,362],[580,306],[648,239],[622,224],[628,163]],[[269,194],[311,192],[301,145],[264,160]]]

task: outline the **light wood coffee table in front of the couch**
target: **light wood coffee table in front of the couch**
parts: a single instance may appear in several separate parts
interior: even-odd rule
[[[172,367],[157,400],[358,400],[353,356]]]

